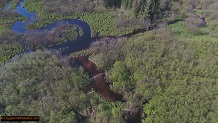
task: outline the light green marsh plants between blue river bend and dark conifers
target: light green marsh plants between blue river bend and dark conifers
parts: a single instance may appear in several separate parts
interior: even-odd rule
[[[63,19],[76,19],[80,18],[81,20],[87,22],[91,27],[92,36],[96,32],[99,32],[101,36],[121,36],[128,33],[131,33],[133,28],[124,28],[118,29],[116,27],[116,17],[112,16],[111,12],[71,12],[67,15],[61,15],[58,13],[47,13],[43,11],[45,7],[44,3],[41,0],[26,0],[24,6],[30,12],[37,12],[40,18],[28,25],[27,29],[33,28],[43,28],[54,21],[63,20]]]

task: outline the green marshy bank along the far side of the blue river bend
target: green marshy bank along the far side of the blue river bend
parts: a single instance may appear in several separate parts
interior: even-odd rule
[[[132,33],[133,30],[139,28],[143,28],[144,23],[141,19],[134,19],[132,18],[132,21],[135,21],[136,23],[129,23],[128,26],[119,28],[118,24],[118,15],[120,15],[119,18],[121,18],[122,14],[121,11],[117,10],[101,10],[101,11],[73,11],[69,10],[69,12],[61,13],[60,11],[56,11],[56,8],[54,7],[53,11],[50,12],[46,8],[48,6],[49,2],[42,2],[40,0],[38,1],[29,1],[26,0],[24,3],[24,7],[27,8],[30,12],[37,12],[38,13],[38,19],[35,23],[29,25],[28,29],[33,28],[42,28],[44,26],[47,26],[54,21],[59,21],[63,19],[77,19],[80,18],[81,20],[87,22],[90,25],[91,28],[91,34],[92,37],[96,35],[96,33],[99,33],[100,36],[121,36],[121,35],[127,35],[129,33]],[[64,5],[61,5],[64,6]],[[122,15],[124,16],[124,15]],[[130,19],[131,20],[131,19]],[[140,20],[140,22],[138,22]],[[137,23],[138,22],[138,23]],[[140,26],[139,26],[140,24]]]

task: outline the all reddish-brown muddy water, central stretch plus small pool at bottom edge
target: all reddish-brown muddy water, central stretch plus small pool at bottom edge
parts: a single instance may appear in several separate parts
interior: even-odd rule
[[[91,83],[82,88],[81,90],[86,93],[95,90],[97,94],[102,96],[109,102],[121,101],[126,102],[123,99],[123,95],[115,93],[110,89],[111,80],[105,75],[104,70],[98,68],[95,63],[90,61],[87,56],[78,56],[72,58],[70,63],[73,67],[82,66],[84,71],[88,73]],[[129,114],[127,123],[141,123],[141,110],[128,110],[124,111]]]

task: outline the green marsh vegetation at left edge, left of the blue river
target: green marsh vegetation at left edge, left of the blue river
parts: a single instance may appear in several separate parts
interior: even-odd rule
[[[6,6],[9,1],[2,1]],[[14,6],[18,3],[18,0],[11,1]],[[25,20],[15,12],[0,12],[0,65],[7,62],[11,57],[17,53],[21,53],[23,48],[17,42],[19,36],[10,31],[10,27],[18,20]]]

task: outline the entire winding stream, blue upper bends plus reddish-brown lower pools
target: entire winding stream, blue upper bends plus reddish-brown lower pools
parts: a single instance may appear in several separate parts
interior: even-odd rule
[[[18,6],[15,8],[15,10],[8,10],[11,6],[11,4],[9,3],[8,6],[6,8],[3,9],[3,11],[15,11],[18,14],[24,16],[27,18],[27,21],[23,22],[23,21],[17,21],[15,24],[13,24],[11,26],[11,30],[15,33],[19,33],[19,34],[28,34],[33,32],[43,32],[43,31],[47,31],[47,30],[51,30],[52,28],[55,28],[58,26],[58,24],[73,24],[73,25],[77,25],[79,27],[82,28],[83,30],[83,35],[78,37],[76,41],[71,41],[68,40],[66,42],[60,43],[56,46],[53,46],[52,49],[64,49],[62,50],[62,54],[63,55],[69,55],[70,53],[76,52],[76,51],[80,51],[83,50],[87,47],[90,46],[91,42],[93,41],[93,39],[91,38],[91,31],[90,31],[90,26],[80,20],[80,19],[74,19],[74,20],[61,20],[61,21],[57,21],[54,22],[44,28],[41,29],[33,29],[33,30],[26,30],[25,27],[28,24],[31,24],[32,22],[34,22],[37,18],[37,13],[36,12],[28,12],[26,8],[23,8],[23,4],[24,4],[25,0],[21,0],[18,4]],[[140,30],[140,31],[144,31],[144,30]],[[134,33],[138,33],[138,31],[134,32]],[[129,36],[129,35],[126,35]],[[21,44],[24,47],[24,53],[28,53],[31,52],[30,49],[26,48],[26,44],[21,41]],[[122,101],[125,102],[125,100],[123,100],[123,95],[118,94],[113,92],[109,85],[111,84],[110,82],[108,82],[106,80],[106,75],[104,74],[104,70],[102,69],[98,69],[97,66],[91,62],[88,57],[86,56],[79,56],[76,58],[71,59],[71,65],[79,65],[82,66],[85,71],[89,74],[89,77],[91,79],[91,83],[84,88],[81,88],[81,90],[85,91],[85,92],[89,92],[92,89],[94,89],[96,91],[96,93],[98,93],[100,96],[102,96],[103,98],[105,98],[107,101],[109,102],[114,102],[114,101]],[[109,79],[109,78],[107,78]],[[135,123],[140,123],[141,122],[141,113],[140,110],[137,112],[134,111],[130,111],[131,115],[130,115],[130,119],[127,122],[135,122]]]

